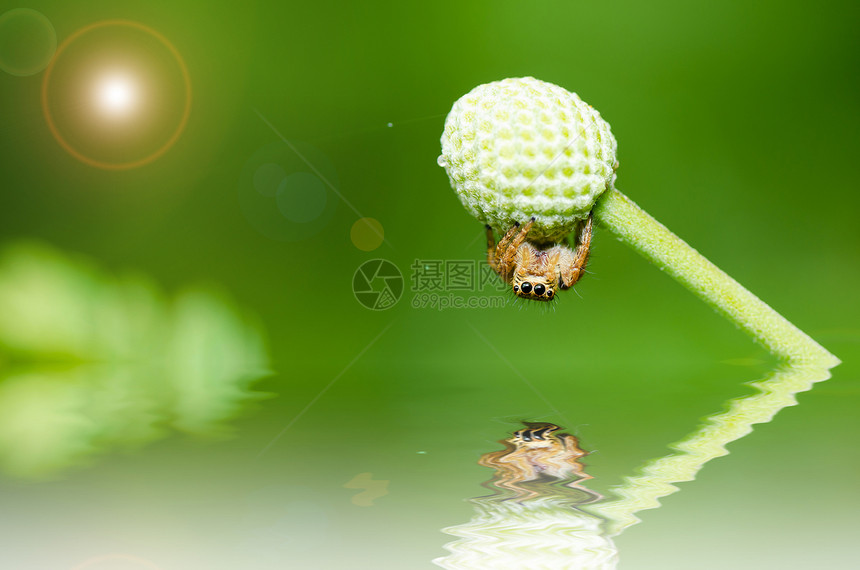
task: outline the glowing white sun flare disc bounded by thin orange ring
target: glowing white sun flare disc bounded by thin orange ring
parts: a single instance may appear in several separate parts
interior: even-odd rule
[[[148,164],[173,147],[191,110],[182,56],[156,30],[130,20],[80,28],[45,68],[42,111],[72,156],[105,170]]]

